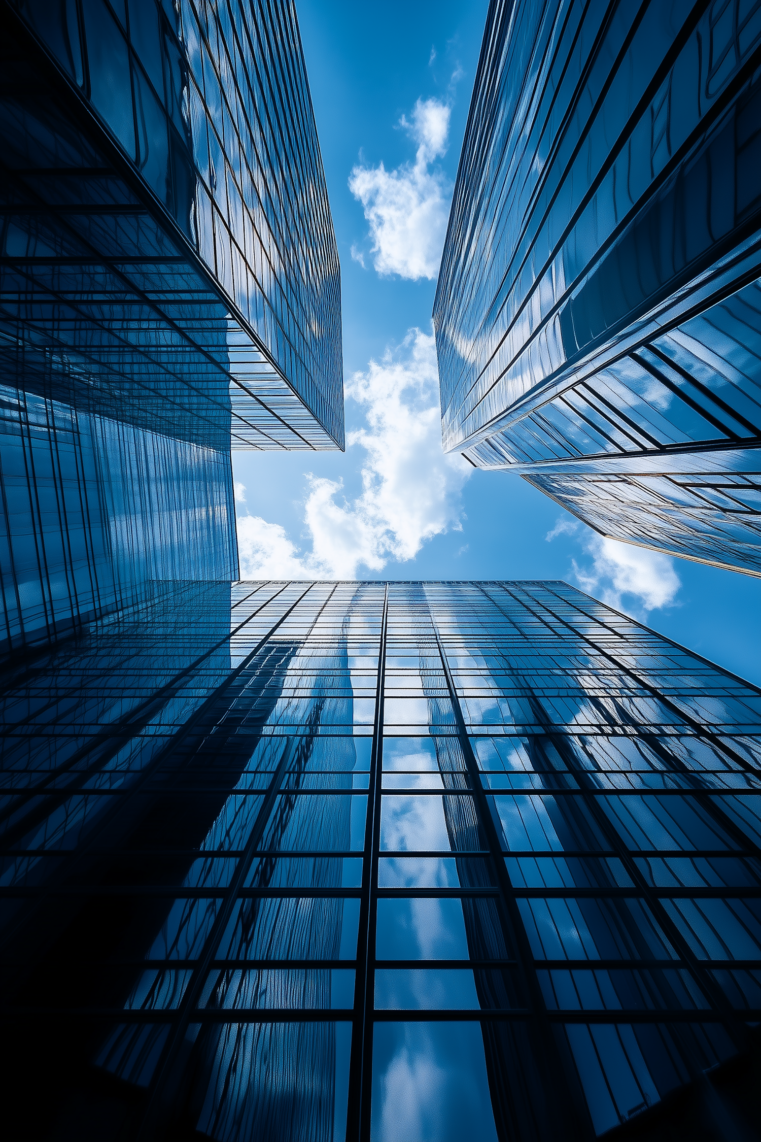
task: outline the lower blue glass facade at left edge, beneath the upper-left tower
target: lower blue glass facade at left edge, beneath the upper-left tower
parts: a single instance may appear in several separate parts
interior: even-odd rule
[[[229,452],[0,385],[0,652],[237,568]]]

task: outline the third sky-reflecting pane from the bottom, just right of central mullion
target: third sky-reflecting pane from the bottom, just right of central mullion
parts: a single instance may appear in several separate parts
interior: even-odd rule
[[[468,959],[461,902],[379,900],[375,955],[379,959]]]

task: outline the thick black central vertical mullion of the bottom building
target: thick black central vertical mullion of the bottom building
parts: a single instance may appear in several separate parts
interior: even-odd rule
[[[380,846],[381,779],[383,772],[383,687],[386,681],[386,632],[388,626],[388,582],[383,594],[375,717],[370,755],[370,790],[362,862],[362,903],[354,989],[351,1059],[349,1064],[349,1105],[347,1142],[370,1137],[370,1110],[373,1065],[373,1008],[375,1005],[375,898],[378,895],[378,853]]]

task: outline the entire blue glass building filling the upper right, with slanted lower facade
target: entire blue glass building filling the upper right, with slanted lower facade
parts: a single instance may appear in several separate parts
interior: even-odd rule
[[[761,7],[492,0],[434,309],[444,447],[761,574]]]

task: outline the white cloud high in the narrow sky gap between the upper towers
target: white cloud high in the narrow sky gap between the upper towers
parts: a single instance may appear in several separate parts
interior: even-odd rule
[[[381,162],[351,170],[349,190],[370,223],[379,274],[418,281],[438,273],[452,188],[443,171],[429,167],[446,152],[450,113],[439,99],[418,99],[412,119],[399,120],[418,144],[414,164],[386,170]]]

